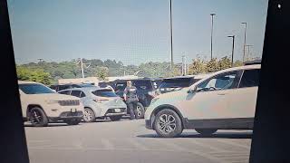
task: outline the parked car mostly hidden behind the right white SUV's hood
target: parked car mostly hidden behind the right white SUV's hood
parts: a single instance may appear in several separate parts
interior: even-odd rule
[[[180,91],[182,89],[189,88],[195,82],[207,77],[208,74],[178,76],[173,78],[165,78],[160,83],[160,87],[157,90],[157,94],[163,94],[170,91]]]

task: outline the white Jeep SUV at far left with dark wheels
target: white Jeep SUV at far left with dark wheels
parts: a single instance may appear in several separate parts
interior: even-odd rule
[[[49,122],[64,121],[69,125],[80,123],[83,106],[79,98],[58,94],[38,82],[19,81],[19,93],[24,120],[35,127]]]

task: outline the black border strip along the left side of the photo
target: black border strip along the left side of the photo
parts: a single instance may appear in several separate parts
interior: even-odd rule
[[[0,0],[0,162],[28,163],[14,51],[5,0]]]

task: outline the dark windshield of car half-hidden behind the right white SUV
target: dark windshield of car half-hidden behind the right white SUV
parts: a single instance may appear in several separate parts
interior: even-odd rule
[[[161,82],[160,88],[189,87],[192,84],[191,80],[191,78],[165,79]]]

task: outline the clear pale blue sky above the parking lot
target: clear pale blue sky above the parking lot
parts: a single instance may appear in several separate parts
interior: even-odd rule
[[[263,51],[267,0],[172,0],[173,60],[242,60],[245,25],[252,56]],[[169,0],[8,0],[16,63],[111,59],[125,65],[170,61]]]

